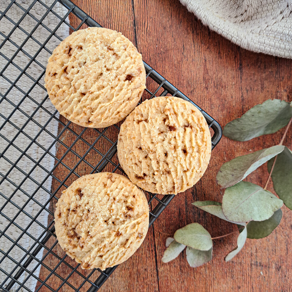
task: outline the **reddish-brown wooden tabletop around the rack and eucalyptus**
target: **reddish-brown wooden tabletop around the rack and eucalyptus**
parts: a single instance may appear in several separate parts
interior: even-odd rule
[[[145,62],[221,126],[268,98],[291,101],[292,60],[253,53],[234,45],[203,26],[178,0],[73,2],[102,26],[128,37]],[[72,17],[70,20],[75,21]],[[236,156],[277,144],[283,131],[248,142],[223,137],[212,152],[203,178],[171,201],[149,229],[138,251],[117,267],[99,291],[289,291],[292,286],[292,211],[285,206],[279,227],[264,239],[247,239],[240,253],[228,263],[224,257],[236,246],[236,233],[214,240],[213,260],[201,267],[191,268],[185,252],[170,263],[161,262],[166,238],[186,224],[198,222],[212,237],[236,230],[234,224],[209,215],[191,203],[221,201],[223,192],[215,182],[220,166]],[[289,130],[284,145],[290,149],[291,138],[292,130]],[[58,149],[58,157],[62,154],[60,151]],[[264,186],[267,175],[266,166],[262,166],[247,180]],[[268,190],[272,190],[271,183]],[[40,277],[45,274],[42,267]],[[70,283],[78,286],[79,282],[75,281],[80,279],[70,279]],[[58,283],[50,285],[56,287]],[[41,291],[48,290],[43,287]]]

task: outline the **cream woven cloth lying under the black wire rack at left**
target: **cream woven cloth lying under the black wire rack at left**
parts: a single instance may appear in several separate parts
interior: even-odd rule
[[[10,4],[10,0],[0,0],[0,11],[3,12],[6,7]],[[31,4],[32,0],[17,0],[18,4],[20,4],[24,9],[27,9]],[[43,0],[43,3],[45,3],[47,6],[51,6],[53,0]],[[65,16],[67,13],[67,9],[63,7],[61,4],[57,3],[53,10],[61,15],[62,17]],[[42,16],[46,13],[47,9],[40,4],[39,2],[36,2],[32,9],[29,11],[37,20],[40,20]],[[22,15],[24,14],[24,11],[19,8],[16,4],[13,4],[11,8],[6,13],[6,16],[11,18],[15,23],[17,23]],[[60,19],[57,18],[53,13],[49,13],[46,18],[42,21],[42,23],[46,26],[48,26],[51,30],[55,29],[55,27],[60,22]],[[20,23],[19,27],[24,29],[26,32],[30,33],[34,26],[37,24],[37,21],[34,20],[31,16],[26,15],[25,18]],[[8,19],[3,17],[0,21],[0,31],[2,34],[7,36],[9,32],[13,29],[14,24],[11,23]],[[67,25],[62,24],[61,27],[57,30],[56,34],[60,36],[61,38],[65,38],[67,35],[69,35],[69,28]],[[32,34],[32,36],[37,39],[41,44],[47,39],[47,37],[50,35],[50,32],[46,30],[44,27],[39,25],[39,27],[36,29],[36,31]],[[15,42],[18,46],[20,46],[23,41],[25,41],[27,35],[21,31],[21,29],[17,28],[15,32],[11,35],[10,40]],[[0,44],[3,42],[4,37],[0,35]],[[57,39],[55,36],[53,36],[50,41],[46,44],[46,47],[53,51],[53,49],[60,43],[60,40]],[[29,39],[27,43],[23,46],[23,50],[26,51],[29,55],[34,56],[36,52],[39,50],[40,46],[32,39]],[[0,52],[4,54],[8,59],[10,59],[14,53],[17,51],[17,48],[10,42],[6,41],[4,46],[1,48]],[[41,63],[44,67],[46,67],[47,60],[49,57],[49,53],[45,51],[44,49],[41,50],[41,52],[36,56],[36,60]],[[19,66],[20,68],[25,68],[25,66],[30,61],[30,58],[28,58],[24,53],[21,51],[15,56],[13,59],[13,62],[15,65]],[[0,55],[0,71],[4,68],[4,66],[7,64],[6,58]],[[3,75],[11,80],[12,82],[19,76],[21,71],[13,64],[10,64],[8,68],[4,71]],[[29,74],[32,78],[37,79],[39,76],[43,73],[44,69],[41,68],[36,62],[32,62],[32,64],[26,69],[26,73]],[[44,84],[44,76],[41,77],[40,84]],[[22,77],[20,77],[20,80],[17,82],[17,86],[23,91],[27,92],[29,88],[34,84],[34,82],[29,79],[24,74]],[[6,95],[6,98],[13,102],[15,105],[17,105],[20,100],[24,97],[24,93],[22,93],[20,90],[18,90],[16,87],[13,87],[10,91],[9,88],[11,87],[11,84],[5,80],[5,78],[0,77],[0,99],[3,97],[3,95]],[[38,84],[34,86],[32,91],[29,93],[29,96],[36,100],[37,102],[41,102],[45,97],[47,93],[46,91],[41,88]],[[49,99],[47,99],[43,106],[51,113],[55,112],[55,107],[52,105]],[[36,109],[37,105],[30,100],[28,97],[25,98],[19,105],[19,109],[23,112],[25,112],[28,116],[30,116],[34,110]],[[11,105],[7,100],[3,100],[0,104],[0,112],[1,115],[4,117],[8,117],[11,112],[13,111],[14,106]],[[10,121],[13,122],[18,128],[21,128],[25,122],[27,121],[28,117],[25,116],[20,110],[16,110],[15,113],[11,116]],[[48,121],[48,119],[51,116],[46,113],[43,109],[39,109],[33,116],[33,119],[39,123],[41,126],[44,126],[44,124]],[[3,125],[4,118],[0,117],[0,126]],[[33,121],[29,121],[27,126],[23,129],[24,133],[29,135],[30,137],[34,138],[38,132],[40,131],[40,127]],[[55,119],[52,119],[51,122],[46,126],[46,129],[50,131],[53,135],[57,135],[58,131],[58,121]],[[13,125],[11,125],[9,122],[7,122],[4,127],[1,129],[0,134],[4,136],[6,139],[11,141],[15,135],[17,135],[18,129],[15,128]],[[0,153],[3,153],[5,148],[8,146],[8,142],[0,136]],[[48,149],[50,145],[53,143],[54,138],[43,131],[39,137],[36,139],[36,142],[42,145],[45,149]],[[24,151],[29,143],[31,143],[31,140],[25,136],[25,134],[18,135],[18,138],[15,139],[13,142],[14,145],[11,145],[7,151],[4,153],[5,158],[0,159],[0,181],[5,175],[9,169],[12,167],[11,163],[14,163],[21,155],[21,151]],[[20,150],[18,150],[20,149]],[[53,145],[50,149],[50,153],[52,155],[55,155],[55,145]],[[12,169],[12,171],[8,174],[8,179],[4,180],[0,185],[0,208],[6,204],[7,199],[9,198],[13,192],[15,191],[16,187],[20,185],[22,180],[25,178],[24,173],[28,173],[32,167],[34,167],[35,163],[34,161],[38,161],[42,155],[44,154],[44,150],[39,147],[36,143],[33,143],[29,149],[26,151],[26,154],[31,158],[27,156],[22,156],[20,161],[18,161],[16,167]],[[34,160],[34,161],[33,161]],[[10,163],[10,162],[11,163]],[[54,166],[54,158],[50,154],[46,154],[44,158],[40,161],[41,166],[43,166],[46,170],[50,171]],[[19,169],[24,171],[22,173]],[[15,206],[22,207],[26,201],[29,199],[27,195],[31,195],[35,192],[38,185],[34,183],[33,180],[35,180],[38,183],[42,183],[44,178],[48,173],[41,169],[39,166],[37,166],[34,171],[30,174],[30,178],[27,178],[25,182],[21,185],[21,189],[18,190],[13,197],[11,198],[11,202],[9,202],[6,207],[2,210],[2,214],[0,214],[0,233],[8,226],[9,220],[6,219],[5,216],[7,216],[9,219],[13,219],[14,216],[17,214],[19,209]],[[43,187],[46,188],[46,190],[51,191],[51,183],[52,183],[52,177],[50,176],[45,182],[43,182]],[[44,189],[39,189],[34,194],[34,199],[38,201],[41,205],[45,204],[45,202],[48,200],[50,195],[48,192],[46,192]],[[48,207],[48,206],[47,206]],[[20,228],[25,229],[27,225],[31,222],[31,218],[29,216],[32,216],[34,218],[36,214],[39,212],[41,206],[36,203],[33,200],[30,200],[29,203],[25,206],[24,212],[21,212],[18,217],[14,220],[14,223],[17,224]],[[26,215],[28,214],[28,215]],[[5,216],[4,216],[5,215]],[[6,257],[3,259],[3,252],[6,253],[11,246],[13,245],[12,241],[15,241],[18,239],[18,237],[21,235],[22,230],[18,228],[16,225],[11,225],[8,230],[5,232],[4,235],[0,237],[0,260],[3,260],[0,264],[0,267],[6,272],[10,273],[13,268],[15,267],[16,263],[18,263],[23,256],[25,256],[25,250],[28,250],[32,244],[34,244],[34,238],[38,238],[41,233],[44,231],[44,228],[40,226],[42,224],[44,227],[47,226],[48,221],[48,212],[43,210],[41,214],[36,218],[39,223],[33,223],[29,229],[27,230],[28,234],[24,234],[21,239],[17,242],[19,246],[14,246],[12,250],[9,253],[9,257]],[[12,241],[11,241],[11,240]],[[21,248],[24,248],[24,250]],[[34,248],[33,248],[34,249]],[[37,254],[36,258],[40,260],[43,256],[43,249]],[[22,260],[22,264],[27,259],[27,256],[24,260]],[[16,263],[14,262],[16,261]],[[33,260],[32,263],[29,265],[28,270],[32,271],[36,267],[37,261]],[[28,277],[28,272],[24,272],[21,277],[18,279],[20,283],[25,282],[25,287],[30,289],[31,291],[35,290],[37,279],[36,277],[39,276],[40,271],[40,265],[36,268],[33,275]],[[18,271],[19,267],[16,269],[15,272],[13,272],[12,276],[15,275],[15,273]],[[11,279],[6,279],[6,274],[4,272],[0,271],[0,284],[4,284],[4,287],[9,283]],[[10,291],[15,291],[19,287],[19,284],[15,284]],[[22,287],[20,291],[27,291],[27,289]]]

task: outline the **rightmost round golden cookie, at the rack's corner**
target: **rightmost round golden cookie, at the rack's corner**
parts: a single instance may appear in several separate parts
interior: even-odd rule
[[[118,157],[130,180],[158,194],[177,194],[204,174],[211,135],[190,102],[161,96],[145,100],[128,115],[118,137]]]

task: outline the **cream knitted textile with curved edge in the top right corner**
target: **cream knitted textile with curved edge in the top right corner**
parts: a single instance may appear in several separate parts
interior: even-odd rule
[[[292,58],[292,0],[180,0],[204,25],[250,51]]]

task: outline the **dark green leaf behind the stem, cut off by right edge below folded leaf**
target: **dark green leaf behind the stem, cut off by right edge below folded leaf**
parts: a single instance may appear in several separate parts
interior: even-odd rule
[[[268,162],[270,172],[273,159]],[[272,171],[273,187],[284,204],[292,210],[292,152],[285,147],[284,151],[277,156]]]

